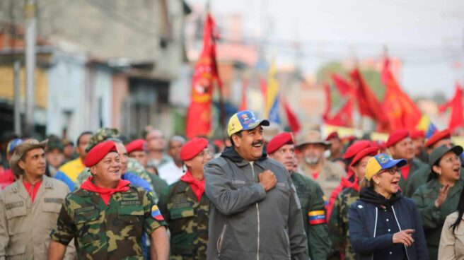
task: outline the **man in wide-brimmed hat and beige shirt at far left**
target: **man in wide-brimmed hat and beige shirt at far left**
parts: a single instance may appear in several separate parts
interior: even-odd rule
[[[10,159],[19,176],[0,194],[0,259],[47,259],[47,242],[69,189],[45,175],[45,146],[35,139],[18,145]],[[66,250],[72,258],[74,245]]]

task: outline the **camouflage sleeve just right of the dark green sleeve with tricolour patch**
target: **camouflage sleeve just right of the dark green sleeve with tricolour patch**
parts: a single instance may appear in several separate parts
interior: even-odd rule
[[[343,222],[340,218],[344,218],[341,215],[341,206],[342,206],[342,194],[338,194],[337,199],[335,199],[334,206],[332,208],[332,213],[330,214],[329,219],[329,238],[332,242],[332,248],[330,250],[330,256],[335,257],[335,259],[340,258],[340,252],[342,251],[342,243],[345,240],[343,232]]]

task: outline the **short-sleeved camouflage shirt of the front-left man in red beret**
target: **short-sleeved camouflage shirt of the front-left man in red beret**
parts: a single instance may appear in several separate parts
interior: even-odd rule
[[[78,189],[66,196],[50,236],[62,244],[75,237],[79,259],[143,259],[142,232],[166,225],[157,212],[151,194],[132,184],[112,194],[108,206],[98,194]]]

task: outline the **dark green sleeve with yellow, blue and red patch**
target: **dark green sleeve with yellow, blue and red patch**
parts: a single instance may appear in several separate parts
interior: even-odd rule
[[[330,249],[330,240],[327,240],[328,230],[325,220],[325,206],[323,190],[315,183],[308,207],[308,244],[311,259],[326,259]]]

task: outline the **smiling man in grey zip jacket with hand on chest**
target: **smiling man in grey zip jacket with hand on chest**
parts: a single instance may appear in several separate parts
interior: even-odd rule
[[[309,259],[301,206],[284,165],[267,158],[264,119],[228,122],[232,147],[204,167],[211,201],[207,259]]]

